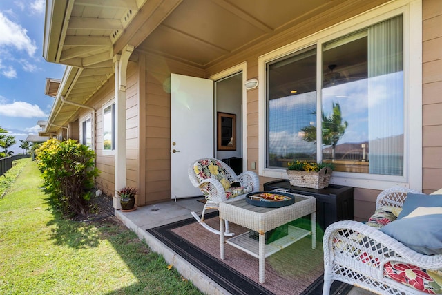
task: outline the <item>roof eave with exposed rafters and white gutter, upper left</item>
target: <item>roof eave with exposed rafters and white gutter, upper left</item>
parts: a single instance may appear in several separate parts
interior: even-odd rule
[[[137,35],[140,26],[152,18],[155,21],[149,22],[153,30],[181,1],[47,0],[43,56],[67,68],[57,93],[48,89],[53,86],[51,81],[46,83],[46,94],[56,99],[45,131],[56,133],[66,127],[79,109],[61,97],[86,104],[113,77],[114,55],[128,41],[137,46],[144,40],[144,34]],[[119,39],[122,41],[117,43]]]

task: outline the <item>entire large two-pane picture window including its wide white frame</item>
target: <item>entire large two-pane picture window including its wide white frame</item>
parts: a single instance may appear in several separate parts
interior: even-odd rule
[[[331,184],[422,188],[422,7],[392,1],[258,58],[258,173],[333,162]]]

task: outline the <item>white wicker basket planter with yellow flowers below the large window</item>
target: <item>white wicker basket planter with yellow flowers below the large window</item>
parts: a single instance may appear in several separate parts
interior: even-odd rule
[[[290,184],[295,187],[323,189],[329,186],[332,177],[332,163],[316,163],[296,160],[287,164]]]

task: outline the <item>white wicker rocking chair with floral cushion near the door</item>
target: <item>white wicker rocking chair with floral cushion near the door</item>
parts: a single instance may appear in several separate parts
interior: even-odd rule
[[[201,178],[198,178],[195,174],[195,166],[201,167],[201,163],[204,162],[211,162],[214,165],[219,167],[220,173],[222,173],[222,177],[227,180],[230,184],[234,182],[238,182],[240,184],[240,187],[244,187],[244,191],[251,192],[251,191],[258,191],[260,187],[260,181],[258,178],[258,175],[254,173],[253,171],[245,171],[244,173],[241,173],[240,175],[236,175],[235,172],[224,162],[218,159],[213,158],[202,158],[195,160],[192,162],[189,166],[189,179],[191,180],[191,183],[194,187],[199,187],[204,194],[206,198],[206,204],[204,205],[204,208],[202,209],[201,218],[198,216],[197,213],[192,212],[192,216],[200,222],[200,224],[206,228],[209,229],[209,231],[220,234],[220,231],[217,229],[213,229],[213,227],[210,227],[204,222],[204,214],[206,213],[206,209],[219,209],[221,202],[228,202],[229,200],[238,200],[238,198],[244,198],[246,196],[246,193],[239,194],[238,196],[235,196],[236,193],[239,193],[240,189],[235,190],[233,193],[233,198],[227,198],[227,196],[231,196],[231,191],[229,189],[224,189],[222,186],[222,183],[220,180],[214,177],[212,175],[210,178],[205,178],[204,180],[201,180]],[[219,175],[217,175],[219,176]],[[229,223],[226,222],[226,231],[225,236],[233,236],[234,234],[229,232]]]

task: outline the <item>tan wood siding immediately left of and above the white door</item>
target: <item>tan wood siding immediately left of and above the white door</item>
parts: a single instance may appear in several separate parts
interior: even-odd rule
[[[145,204],[171,200],[171,73],[204,77],[204,70],[149,53],[146,60],[146,199]]]

